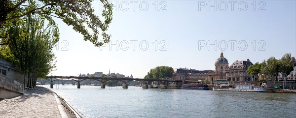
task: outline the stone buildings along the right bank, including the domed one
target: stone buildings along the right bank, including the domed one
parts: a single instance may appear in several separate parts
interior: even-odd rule
[[[295,58],[292,58],[292,62],[295,63],[294,70],[287,77],[288,80],[296,79],[296,62]],[[229,79],[233,82],[256,82],[259,81],[257,75],[248,75],[246,70],[253,63],[250,59],[247,60],[236,60],[229,65],[228,60],[224,58],[223,53],[215,61],[215,70],[195,70],[188,68],[174,69],[172,79],[175,80],[192,80],[201,81],[208,80],[209,82],[216,81],[217,79]],[[278,76],[279,79],[283,79],[281,74]]]

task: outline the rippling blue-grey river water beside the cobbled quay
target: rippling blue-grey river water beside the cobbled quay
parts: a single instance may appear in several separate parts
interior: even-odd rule
[[[292,93],[72,85],[52,90],[86,118],[296,118]]]

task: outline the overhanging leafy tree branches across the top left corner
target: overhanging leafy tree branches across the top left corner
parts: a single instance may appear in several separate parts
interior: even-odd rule
[[[47,20],[55,30],[57,24],[53,18],[63,20],[68,26],[81,33],[85,41],[92,42],[95,46],[102,46],[110,41],[110,34],[106,31],[112,20],[112,4],[101,0],[102,21],[92,8],[94,0],[0,0],[0,45],[7,45],[9,33],[7,29],[12,21],[28,15],[37,15],[41,20]],[[85,27],[85,25],[87,27]],[[91,31],[88,31],[90,29]],[[98,41],[101,31],[102,41]],[[59,33],[54,34],[57,37]]]

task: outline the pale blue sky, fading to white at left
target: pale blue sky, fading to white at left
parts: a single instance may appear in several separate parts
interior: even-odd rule
[[[223,52],[261,62],[285,53],[296,57],[295,0],[112,0],[111,42],[95,47],[61,20],[49,75],[111,72],[144,78],[156,66],[214,70]],[[148,6],[148,7],[147,7]],[[93,2],[98,16],[102,8]],[[100,39],[99,39],[100,40]]]

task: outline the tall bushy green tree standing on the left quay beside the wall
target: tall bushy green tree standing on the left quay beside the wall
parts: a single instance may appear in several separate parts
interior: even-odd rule
[[[44,21],[38,16],[28,15],[22,20],[13,21],[7,29],[9,51],[15,64],[28,77],[27,87],[36,86],[37,78],[44,78],[55,68],[55,55],[52,52],[57,38],[55,29],[48,26],[43,29]]]

